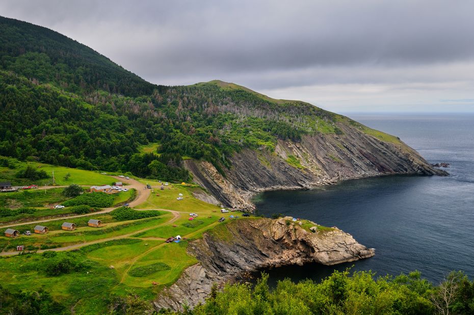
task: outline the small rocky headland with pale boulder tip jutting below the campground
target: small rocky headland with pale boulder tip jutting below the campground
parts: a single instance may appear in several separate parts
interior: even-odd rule
[[[336,227],[291,219],[234,220],[205,233],[188,247],[199,264],[187,268],[166,288],[155,308],[179,310],[183,303],[194,307],[204,301],[213,283],[233,282],[260,269],[310,262],[334,265],[375,253]]]

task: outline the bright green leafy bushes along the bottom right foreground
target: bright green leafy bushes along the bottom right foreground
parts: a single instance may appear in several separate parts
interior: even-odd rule
[[[279,281],[274,290],[268,275],[252,287],[214,287],[205,304],[193,314],[473,314],[474,282],[453,272],[439,285],[419,272],[375,278],[372,272],[335,271],[317,283]]]

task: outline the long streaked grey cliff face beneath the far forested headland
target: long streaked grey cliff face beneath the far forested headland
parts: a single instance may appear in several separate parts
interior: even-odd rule
[[[279,140],[274,152],[245,149],[235,153],[222,176],[204,161],[186,161],[194,180],[223,205],[250,210],[258,192],[330,185],[339,180],[387,174],[443,175],[412,148],[391,137],[382,141],[356,127],[338,123],[341,135]],[[386,135],[388,136],[388,135]]]

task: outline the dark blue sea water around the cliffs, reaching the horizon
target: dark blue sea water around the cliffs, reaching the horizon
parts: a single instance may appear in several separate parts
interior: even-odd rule
[[[353,270],[378,275],[419,270],[435,283],[451,270],[474,278],[474,115],[349,116],[399,136],[431,163],[450,163],[446,170],[451,175],[386,176],[258,195],[254,201],[260,214],[282,213],[335,225],[376,248],[374,257],[354,263],[273,269],[272,281],[320,280],[352,265]]]

